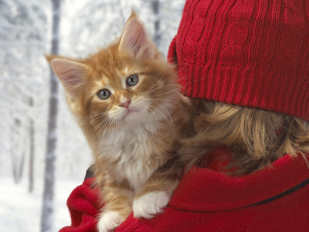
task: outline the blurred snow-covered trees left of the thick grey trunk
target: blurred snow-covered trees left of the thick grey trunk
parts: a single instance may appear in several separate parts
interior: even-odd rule
[[[45,119],[45,100],[40,97],[46,87],[47,5],[47,0],[0,0],[0,149],[1,156],[11,156],[11,165],[3,159],[0,174],[12,167],[19,183],[29,157],[30,190],[34,154],[45,146],[36,132],[44,130],[40,122]],[[34,149],[34,143],[42,146]]]

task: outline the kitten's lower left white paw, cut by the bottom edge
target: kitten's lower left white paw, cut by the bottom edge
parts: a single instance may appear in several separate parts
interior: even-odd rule
[[[98,222],[99,232],[109,232],[116,229],[119,224],[124,222],[124,218],[115,211],[106,211],[101,213],[100,220]]]

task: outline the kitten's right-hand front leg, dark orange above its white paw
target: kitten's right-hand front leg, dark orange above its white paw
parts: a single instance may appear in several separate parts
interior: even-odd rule
[[[152,218],[168,205],[181,180],[183,168],[169,162],[156,170],[133,201],[135,218]]]

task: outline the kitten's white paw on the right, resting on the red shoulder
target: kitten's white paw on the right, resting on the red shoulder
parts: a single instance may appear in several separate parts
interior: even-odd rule
[[[165,192],[150,192],[135,199],[133,213],[135,218],[152,218],[168,205],[170,196]]]

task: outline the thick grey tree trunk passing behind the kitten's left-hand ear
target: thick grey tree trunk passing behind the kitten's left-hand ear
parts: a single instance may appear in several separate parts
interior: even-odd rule
[[[60,0],[52,0],[53,5],[53,31],[52,54],[58,54]],[[50,96],[49,96],[49,121],[47,133],[47,152],[45,161],[45,182],[43,193],[43,208],[41,215],[41,232],[52,231],[54,224],[54,172],[56,161],[56,128],[58,115],[58,81],[50,69]]]

